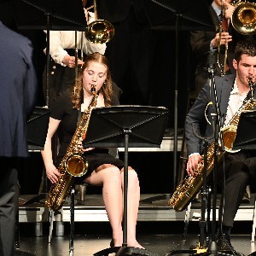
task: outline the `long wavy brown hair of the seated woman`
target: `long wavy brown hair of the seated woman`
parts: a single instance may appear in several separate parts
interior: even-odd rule
[[[80,108],[83,99],[84,99],[84,92],[83,92],[83,73],[86,67],[89,67],[91,62],[98,62],[105,67],[107,67],[107,79],[102,85],[102,88],[99,92],[102,93],[104,97],[105,106],[111,106],[113,104],[113,88],[112,88],[112,78],[109,71],[109,64],[108,59],[106,56],[101,55],[98,52],[92,53],[88,55],[84,61],[84,65],[79,70],[79,76],[77,79],[77,83],[73,87],[73,93],[71,96],[71,101],[73,102],[73,108]]]

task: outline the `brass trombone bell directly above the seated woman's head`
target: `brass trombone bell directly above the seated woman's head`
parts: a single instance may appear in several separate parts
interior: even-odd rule
[[[94,44],[108,43],[113,38],[114,28],[108,20],[98,20],[96,0],[93,1],[95,21],[91,22],[85,31],[85,38]]]

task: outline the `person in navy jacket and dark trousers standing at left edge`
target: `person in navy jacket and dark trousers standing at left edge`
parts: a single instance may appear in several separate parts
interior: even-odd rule
[[[0,21],[0,255],[15,248],[17,165],[28,156],[26,119],[37,100],[38,84],[30,41]]]

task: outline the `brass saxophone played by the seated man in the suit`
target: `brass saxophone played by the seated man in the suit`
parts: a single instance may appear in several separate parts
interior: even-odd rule
[[[255,84],[254,84],[255,85]],[[245,110],[252,110],[256,106],[256,99],[253,98],[253,79],[249,79],[250,93],[251,97],[243,103],[241,108],[235,113],[235,115],[230,119],[228,125],[221,129],[223,133],[224,140],[224,151],[219,147],[217,157],[219,160],[223,159],[228,153],[234,153],[233,143],[236,139],[236,129],[241,116],[241,113]],[[210,144],[207,150],[207,176],[212,172],[214,164],[214,142]],[[203,183],[203,170],[204,170],[204,160],[201,156],[201,160],[194,170],[194,176],[187,176],[183,181],[177,186],[174,191],[172,198],[168,201],[168,206],[173,207],[175,211],[182,212],[189,203],[195,198],[195,195],[201,189]]]

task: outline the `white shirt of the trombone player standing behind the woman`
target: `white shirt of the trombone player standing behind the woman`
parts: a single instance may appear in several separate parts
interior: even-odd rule
[[[94,20],[94,13],[88,12],[88,24]],[[47,31],[44,30],[44,32]],[[81,47],[82,36],[83,46]],[[77,49],[83,49],[85,55],[94,52],[104,55],[106,48],[106,44],[93,44],[85,38],[84,32],[77,32]],[[62,62],[64,56],[67,55],[65,49],[75,49],[75,31],[49,31],[49,55],[55,63],[64,67],[67,66]],[[44,53],[46,53],[46,49],[44,49]]]

